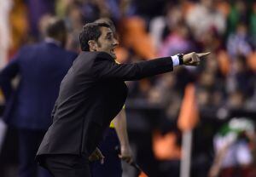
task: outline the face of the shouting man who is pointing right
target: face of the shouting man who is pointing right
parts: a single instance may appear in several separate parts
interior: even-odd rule
[[[118,40],[113,36],[113,31],[108,27],[101,27],[102,35],[96,43],[96,51],[107,52],[113,59],[116,59],[114,49],[119,44]]]

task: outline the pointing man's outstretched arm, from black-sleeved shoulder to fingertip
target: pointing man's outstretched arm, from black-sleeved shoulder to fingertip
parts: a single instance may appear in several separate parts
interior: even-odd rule
[[[201,57],[210,53],[183,54],[181,60],[177,55],[141,61],[132,64],[117,64],[107,53],[100,52],[92,65],[93,76],[97,79],[118,79],[123,81],[138,80],[143,77],[152,77],[173,70],[173,66],[198,66]],[[177,61],[177,62],[176,62]]]

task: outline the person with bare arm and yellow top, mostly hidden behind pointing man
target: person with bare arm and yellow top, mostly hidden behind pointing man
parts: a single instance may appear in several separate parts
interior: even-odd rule
[[[117,37],[118,33],[113,25],[113,21],[108,18],[101,18],[96,23],[107,23],[113,31],[113,36]],[[116,59],[118,62],[118,59]],[[119,147],[119,154],[117,152]],[[128,133],[126,128],[126,116],[125,106],[114,117],[110,126],[105,129],[103,138],[98,144],[98,148],[104,154],[104,163],[98,161],[90,163],[90,174],[92,177],[121,177],[122,176],[122,164],[121,160],[126,163],[132,162],[131,147],[128,139]]]

